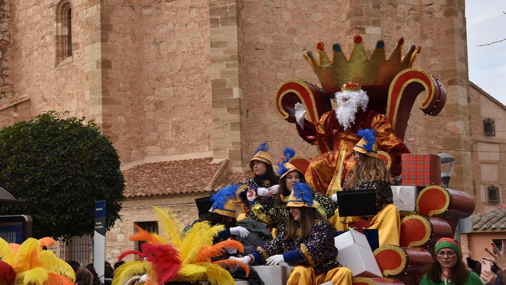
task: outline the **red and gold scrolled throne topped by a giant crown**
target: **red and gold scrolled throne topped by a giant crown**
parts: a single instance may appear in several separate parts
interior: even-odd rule
[[[404,140],[409,113],[416,97],[424,93],[425,98],[419,104],[420,109],[428,115],[439,114],[446,102],[446,90],[441,83],[428,72],[413,68],[412,65],[421,47],[411,45],[406,55],[402,55],[404,38],[397,40],[397,45],[387,59],[385,43],[378,40],[370,57],[364,51],[362,36],[355,35],[351,56],[347,58],[339,43],[332,46],[331,59],[322,42],[316,45],[319,60],[312,51],[304,54],[313,71],[318,76],[322,88],[299,79],[282,82],[274,93],[274,106],[278,114],[290,123],[296,123],[294,105],[300,102],[308,111],[308,120],[318,121],[327,111],[332,110],[331,98],[336,91],[347,83],[358,83],[369,95],[367,108],[379,114],[385,114],[392,123],[396,135]],[[338,76],[336,76],[338,74]],[[333,138],[317,145],[319,153],[332,150]],[[401,171],[400,161],[387,152],[380,151],[379,157],[385,160],[393,175]],[[297,156],[292,159],[304,170],[309,159]]]

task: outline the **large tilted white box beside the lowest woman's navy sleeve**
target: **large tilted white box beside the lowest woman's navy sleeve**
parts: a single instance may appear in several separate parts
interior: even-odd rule
[[[348,267],[353,277],[383,277],[364,234],[350,231],[334,237],[338,262]]]

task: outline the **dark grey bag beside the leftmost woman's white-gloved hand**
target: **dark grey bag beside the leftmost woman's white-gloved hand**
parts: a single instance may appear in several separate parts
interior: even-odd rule
[[[264,223],[243,219],[237,222],[237,226],[246,228],[249,231],[248,236],[240,238],[244,246],[244,255],[254,252],[258,247],[272,240],[272,234]]]

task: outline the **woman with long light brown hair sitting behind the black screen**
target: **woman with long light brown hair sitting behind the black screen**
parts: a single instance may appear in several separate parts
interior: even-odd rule
[[[371,129],[359,130],[358,136],[362,139],[355,145],[355,167],[345,180],[343,191],[375,189],[377,214],[370,217],[347,217],[346,222],[370,221],[368,229],[377,229],[379,246],[399,245],[401,221],[399,210],[394,205],[392,195],[391,175],[385,162],[378,158],[376,134]],[[332,200],[337,201],[337,195]],[[348,226],[342,224],[339,213],[332,217],[332,222],[339,230],[347,230]],[[343,221],[344,222],[344,221]]]

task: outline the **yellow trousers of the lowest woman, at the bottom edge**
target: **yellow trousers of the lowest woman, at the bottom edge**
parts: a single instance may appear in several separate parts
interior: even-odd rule
[[[351,270],[344,266],[315,275],[313,267],[299,265],[291,270],[286,285],[319,285],[328,281],[332,285],[351,285],[352,275]]]

